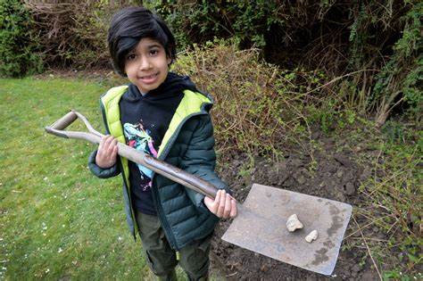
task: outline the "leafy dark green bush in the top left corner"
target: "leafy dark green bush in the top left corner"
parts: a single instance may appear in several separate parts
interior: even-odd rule
[[[0,0],[0,75],[21,77],[43,68],[31,14],[19,0]]]

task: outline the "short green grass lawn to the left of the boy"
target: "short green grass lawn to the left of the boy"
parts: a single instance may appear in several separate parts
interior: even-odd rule
[[[44,130],[76,109],[103,131],[106,89],[81,79],[0,79],[0,279],[153,279],[126,225],[120,177],[87,169],[95,145]],[[181,269],[178,276],[185,279]]]

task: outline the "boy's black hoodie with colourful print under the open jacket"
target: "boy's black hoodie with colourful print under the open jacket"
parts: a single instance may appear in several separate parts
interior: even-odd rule
[[[157,156],[185,89],[197,91],[187,76],[172,72],[162,85],[145,95],[141,95],[137,86],[129,84],[128,92],[120,100],[120,120],[127,145]],[[155,215],[150,173],[150,170],[129,161],[132,204],[140,212]]]

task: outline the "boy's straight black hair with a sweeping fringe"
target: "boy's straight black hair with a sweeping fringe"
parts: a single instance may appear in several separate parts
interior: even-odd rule
[[[156,14],[144,7],[127,7],[113,15],[107,42],[113,67],[121,76],[127,76],[126,56],[145,37],[159,42],[172,62],[176,59],[175,37]]]

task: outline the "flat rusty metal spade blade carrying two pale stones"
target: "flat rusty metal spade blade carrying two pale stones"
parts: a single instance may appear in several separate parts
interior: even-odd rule
[[[352,206],[271,186],[253,184],[238,216],[222,239],[253,252],[324,275],[335,269]],[[286,219],[297,214],[303,229],[286,229]],[[304,240],[312,230],[319,237]]]

